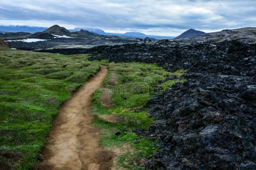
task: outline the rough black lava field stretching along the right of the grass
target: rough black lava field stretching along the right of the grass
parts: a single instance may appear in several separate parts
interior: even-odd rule
[[[145,169],[256,169],[256,45],[239,41],[97,46],[40,52],[91,53],[89,60],[156,63],[186,69],[146,108],[157,120],[138,135],[157,140],[160,150]],[[162,81],[163,82],[163,81]],[[159,82],[160,84],[162,82]]]

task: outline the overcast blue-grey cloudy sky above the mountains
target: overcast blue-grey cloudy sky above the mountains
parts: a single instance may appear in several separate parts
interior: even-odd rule
[[[0,25],[50,27],[58,24],[105,32],[143,32],[177,36],[193,28],[204,32],[255,27],[256,0],[6,0]]]

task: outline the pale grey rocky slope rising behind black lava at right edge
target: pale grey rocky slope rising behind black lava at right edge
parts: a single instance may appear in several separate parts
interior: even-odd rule
[[[189,39],[176,39],[182,42],[223,42],[226,40],[237,40],[245,43],[256,43],[256,27],[245,27],[219,32],[205,33]]]

